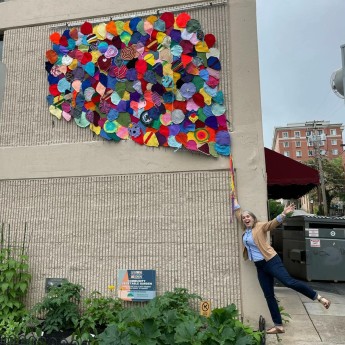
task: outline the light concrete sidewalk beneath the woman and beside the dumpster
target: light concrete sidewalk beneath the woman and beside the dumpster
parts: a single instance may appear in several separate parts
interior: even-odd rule
[[[266,335],[267,345],[345,345],[345,295],[318,291],[331,300],[328,310],[285,287],[275,288],[279,304],[290,314],[285,333]],[[266,328],[272,321],[266,320]]]

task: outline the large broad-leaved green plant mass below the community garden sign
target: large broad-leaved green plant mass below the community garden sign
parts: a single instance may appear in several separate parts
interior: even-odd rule
[[[143,307],[122,310],[119,322],[98,336],[103,345],[254,345],[261,332],[238,320],[234,304],[213,310],[211,317],[199,315],[191,306],[201,299],[186,289],[175,289]]]

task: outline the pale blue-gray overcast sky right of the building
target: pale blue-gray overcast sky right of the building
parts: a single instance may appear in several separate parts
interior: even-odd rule
[[[345,124],[344,99],[330,86],[342,67],[345,0],[257,0],[257,30],[265,147],[274,127]]]

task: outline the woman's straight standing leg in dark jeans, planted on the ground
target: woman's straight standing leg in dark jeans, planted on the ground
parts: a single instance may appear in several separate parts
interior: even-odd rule
[[[279,311],[277,300],[274,296],[273,276],[265,272],[264,268],[266,264],[267,263],[264,260],[255,263],[256,270],[258,272],[259,283],[266,298],[267,306],[270,311],[272,321],[276,326],[282,326],[282,317]]]

